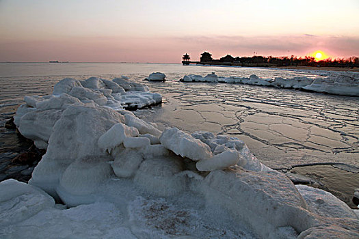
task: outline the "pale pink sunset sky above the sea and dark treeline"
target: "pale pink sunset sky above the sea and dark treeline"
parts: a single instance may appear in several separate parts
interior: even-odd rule
[[[0,61],[359,56],[359,0],[0,0]]]

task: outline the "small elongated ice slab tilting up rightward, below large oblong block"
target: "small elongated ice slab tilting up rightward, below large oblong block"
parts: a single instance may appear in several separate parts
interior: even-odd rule
[[[226,169],[235,165],[239,161],[239,152],[235,150],[226,150],[221,154],[217,154],[212,158],[199,160],[196,163],[196,168],[199,171],[212,171],[216,169]]]

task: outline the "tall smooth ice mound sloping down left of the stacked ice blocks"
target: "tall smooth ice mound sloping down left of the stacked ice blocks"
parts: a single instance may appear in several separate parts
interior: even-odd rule
[[[29,183],[56,196],[62,173],[72,162],[106,156],[98,147],[98,138],[119,122],[124,122],[123,116],[107,107],[68,107],[53,127],[49,147]]]

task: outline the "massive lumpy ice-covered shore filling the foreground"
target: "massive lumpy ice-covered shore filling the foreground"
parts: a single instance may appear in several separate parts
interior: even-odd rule
[[[0,183],[1,238],[359,236],[345,203],[294,186],[243,141],[162,132],[124,110],[161,99],[131,84],[64,79],[52,96],[25,98],[16,126],[46,154],[29,184]]]

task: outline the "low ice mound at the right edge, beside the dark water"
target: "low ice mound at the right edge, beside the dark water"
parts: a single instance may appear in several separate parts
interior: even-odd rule
[[[353,210],[332,193],[306,185],[296,185],[296,187],[306,200],[310,211],[320,216],[358,219]]]

